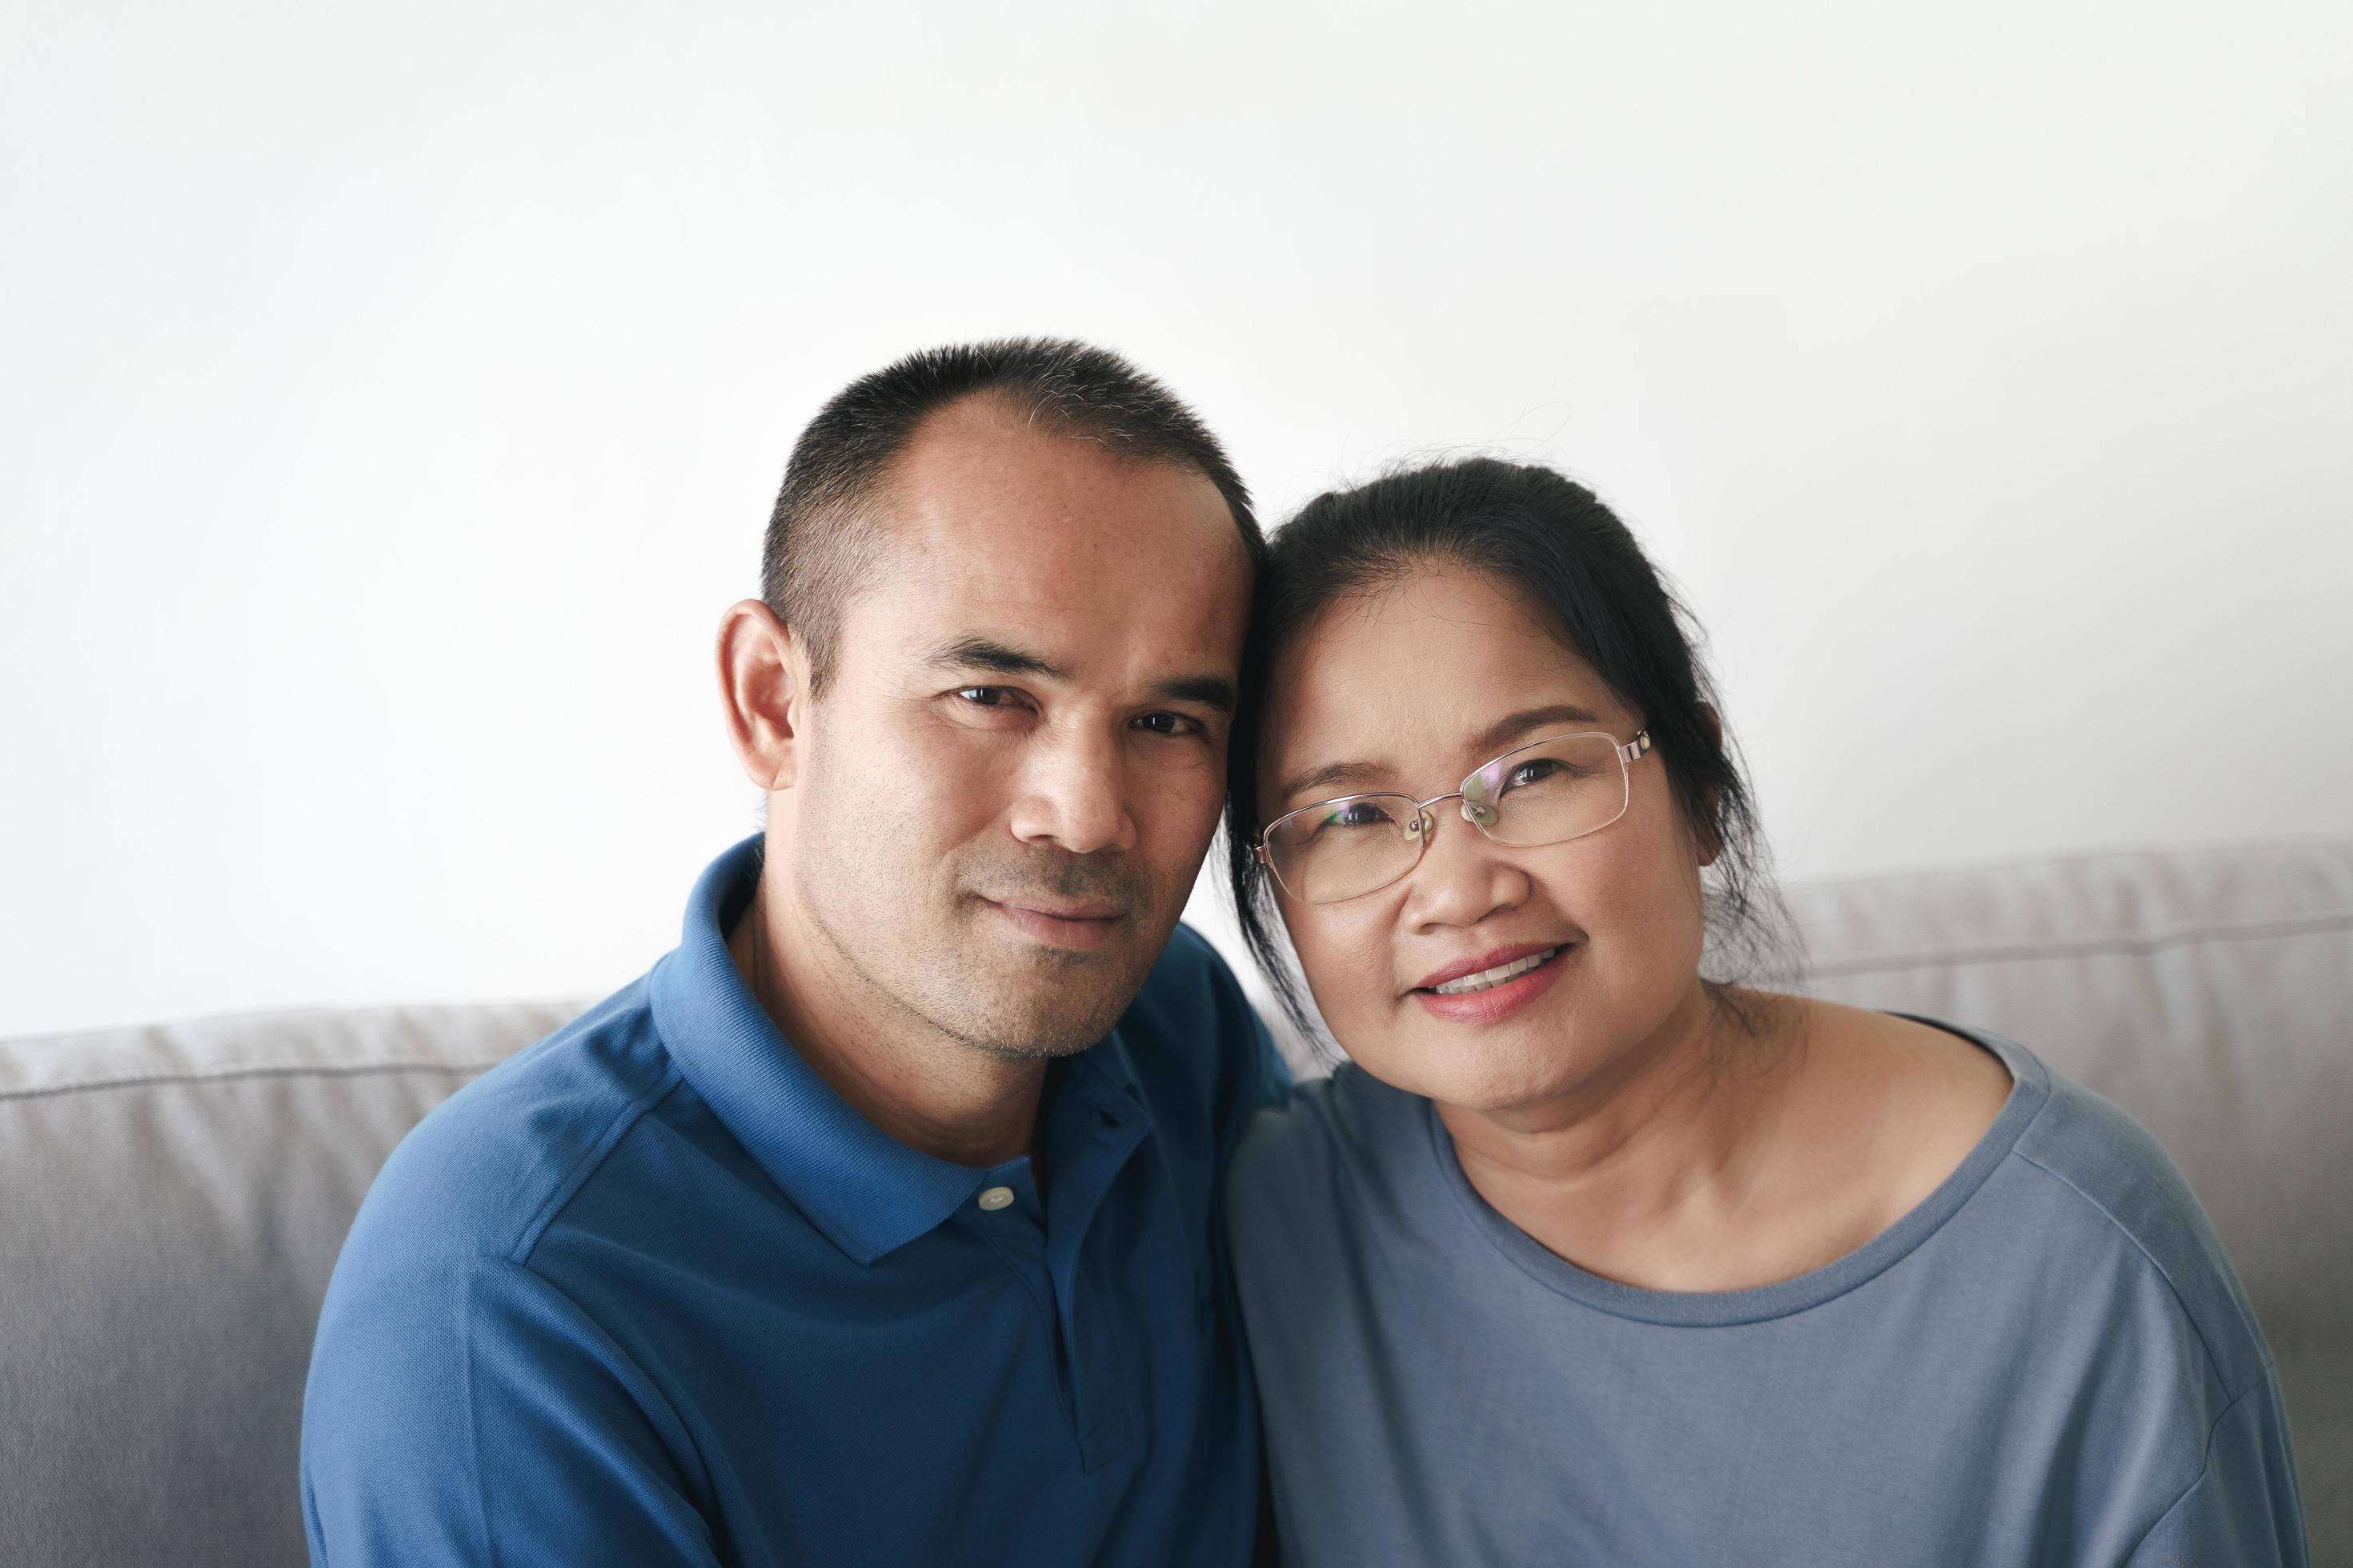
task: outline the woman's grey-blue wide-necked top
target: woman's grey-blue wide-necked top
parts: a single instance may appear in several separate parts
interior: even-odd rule
[[[1228,1211],[1285,1561],[2304,1563],[2271,1352],[2125,1112],[2014,1086],[1915,1211],[1755,1291],[1544,1251],[1428,1100],[1259,1112]]]

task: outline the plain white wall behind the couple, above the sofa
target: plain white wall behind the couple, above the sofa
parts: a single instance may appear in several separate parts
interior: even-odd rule
[[[7,0],[0,1034],[595,994],[887,357],[1614,498],[1793,875],[2353,832],[2353,9]]]

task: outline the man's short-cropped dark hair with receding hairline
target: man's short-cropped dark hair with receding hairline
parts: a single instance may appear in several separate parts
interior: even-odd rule
[[[875,559],[875,489],[927,416],[969,397],[998,400],[1024,423],[1132,463],[1195,470],[1226,498],[1252,571],[1264,559],[1249,489],[1226,449],[1193,409],[1120,355],[1068,339],[927,348],[835,393],[784,468],[760,550],[760,597],[809,649],[816,691],[833,677],[842,614]]]

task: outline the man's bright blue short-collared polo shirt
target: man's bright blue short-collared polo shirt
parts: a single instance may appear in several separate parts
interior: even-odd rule
[[[1217,1187],[1287,1077],[1233,976],[1179,926],[1054,1063],[1040,1197],[809,1072],[727,954],[758,872],[384,1166],[311,1356],[313,1563],[1247,1561]]]

